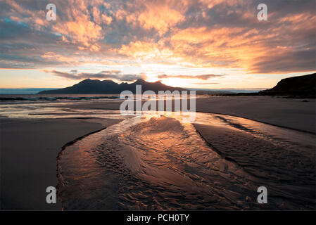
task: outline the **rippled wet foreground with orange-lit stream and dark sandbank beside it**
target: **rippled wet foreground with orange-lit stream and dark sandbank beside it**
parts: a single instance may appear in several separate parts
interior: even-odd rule
[[[312,134],[226,115],[196,113],[188,124],[145,113],[65,148],[58,195],[65,210],[315,209],[312,156]],[[258,186],[269,204],[257,203]]]

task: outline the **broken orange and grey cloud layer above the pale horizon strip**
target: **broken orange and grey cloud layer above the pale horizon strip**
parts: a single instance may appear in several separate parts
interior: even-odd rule
[[[57,21],[49,22],[45,3],[4,0],[0,65],[164,64],[218,73],[314,70],[315,2],[266,3],[268,21],[258,21],[253,1],[56,0]]]

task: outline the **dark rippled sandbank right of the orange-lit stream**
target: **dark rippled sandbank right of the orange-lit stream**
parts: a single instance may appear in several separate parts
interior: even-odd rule
[[[272,198],[279,198],[279,209],[315,210],[315,145],[296,148],[293,143],[263,139],[253,131],[205,124],[194,127],[210,148],[260,180]],[[284,199],[289,201],[282,205]]]

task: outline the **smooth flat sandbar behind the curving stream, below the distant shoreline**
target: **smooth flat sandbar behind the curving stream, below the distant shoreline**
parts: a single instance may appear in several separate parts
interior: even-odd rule
[[[119,110],[120,101],[82,102],[61,107]],[[273,96],[213,96],[196,99],[196,112],[222,113],[301,131],[316,133],[315,99]]]

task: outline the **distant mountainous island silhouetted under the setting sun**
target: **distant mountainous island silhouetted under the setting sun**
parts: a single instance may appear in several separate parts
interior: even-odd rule
[[[132,91],[135,93],[136,85],[141,85],[141,91],[184,91],[180,87],[172,87],[158,82],[146,82],[144,79],[137,79],[136,82],[128,84],[122,82],[115,83],[112,80],[84,79],[82,82],[64,89],[39,91],[38,94],[120,94],[122,91]]]

